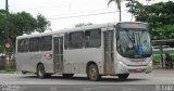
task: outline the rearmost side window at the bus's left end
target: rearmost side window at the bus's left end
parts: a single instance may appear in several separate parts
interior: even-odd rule
[[[20,39],[17,41],[17,52],[28,52],[28,39]]]

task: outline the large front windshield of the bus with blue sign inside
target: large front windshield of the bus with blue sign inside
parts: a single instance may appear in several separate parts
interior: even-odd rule
[[[145,28],[120,28],[117,30],[117,52],[124,57],[151,56],[149,31]]]

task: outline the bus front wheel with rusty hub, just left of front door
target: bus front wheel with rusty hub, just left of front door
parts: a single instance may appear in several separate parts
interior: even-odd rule
[[[100,80],[101,76],[99,75],[99,69],[96,64],[89,65],[87,69],[87,77],[91,81],[98,81]]]

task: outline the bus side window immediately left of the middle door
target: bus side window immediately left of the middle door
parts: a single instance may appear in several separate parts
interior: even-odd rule
[[[52,36],[45,36],[40,38],[40,51],[52,50]]]

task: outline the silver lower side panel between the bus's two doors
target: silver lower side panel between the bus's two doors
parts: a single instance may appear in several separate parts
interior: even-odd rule
[[[100,48],[73,49],[64,51],[64,73],[86,74],[87,63],[92,61],[103,74],[102,52]]]

